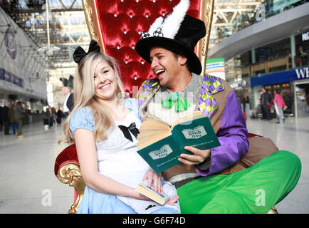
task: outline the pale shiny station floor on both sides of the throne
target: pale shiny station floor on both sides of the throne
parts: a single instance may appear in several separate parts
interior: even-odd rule
[[[309,213],[309,117],[274,122],[249,119],[248,130],[271,138],[302,161],[298,185],[276,207],[280,213]],[[68,213],[73,187],[53,175],[56,157],[66,147],[57,143],[62,126],[45,131],[42,123],[33,123],[24,126],[23,135],[16,139],[0,132],[0,213]]]

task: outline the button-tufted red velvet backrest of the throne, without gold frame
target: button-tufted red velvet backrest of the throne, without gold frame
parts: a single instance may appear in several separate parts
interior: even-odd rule
[[[166,16],[179,0],[96,0],[105,53],[120,63],[125,91],[134,97],[141,83],[155,77],[150,64],[135,51],[141,33],[159,16]],[[191,0],[187,14],[199,18],[199,0]],[[87,8],[85,8],[87,10]],[[100,40],[100,37],[98,37]],[[100,43],[100,41],[98,41]],[[102,43],[100,43],[102,46]],[[134,88],[135,86],[135,88]]]

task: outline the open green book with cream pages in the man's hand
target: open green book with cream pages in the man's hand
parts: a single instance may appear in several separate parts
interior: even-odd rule
[[[221,145],[209,118],[199,111],[179,118],[172,127],[148,118],[142,123],[137,140],[137,152],[157,173],[181,163],[180,154],[192,154],[184,150],[185,146],[207,150]]]

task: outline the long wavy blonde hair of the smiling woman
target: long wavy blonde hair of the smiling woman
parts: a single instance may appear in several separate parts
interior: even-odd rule
[[[75,71],[73,88],[74,108],[63,124],[63,133],[65,135],[63,140],[66,140],[66,142],[73,141],[73,135],[70,132],[70,119],[72,118],[75,111],[79,108],[88,106],[92,110],[96,142],[105,140],[107,138],[106,131],[110,127],[114,127],[114,121],[112,120],[110,113],[108,113],[108,108],[104,107],[102,103],[98,101],[98,98],[95,97],[95,82],[93,78],[95,74],[95,68],[98,66],[100,61],[105,61],[114,70],[115,78],[117,81],[117,101],[123,103],[125,93],[122,81],[120,79],[120,69],[115,61],[115,58],[107,56],[104,53],[97,52],[90,53],[85,56],[78,64],[78,67]],[[59,142],[63,140],[59,140]]]

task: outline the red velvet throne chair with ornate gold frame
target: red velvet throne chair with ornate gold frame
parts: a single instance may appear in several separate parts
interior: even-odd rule
[[[135,51],[141,33],[148,31],[159,16],[166,16],[180,0],[82,0],[90,38],[98,41],[101,51],[116,58],[128,96],[136,98],[142,82],[155,77],[150,64]],[[204,21],[206,36],[195,52],[201,61],[204,76],[214,0],[191,0],[187,14]],[[258,136],[249,133],[248,137]],[[54,172],[58,180],[74,187],[69,214],[75,214],[83,198],[85,182],[78,162],[75,143],[66,147],[56,158]]]

